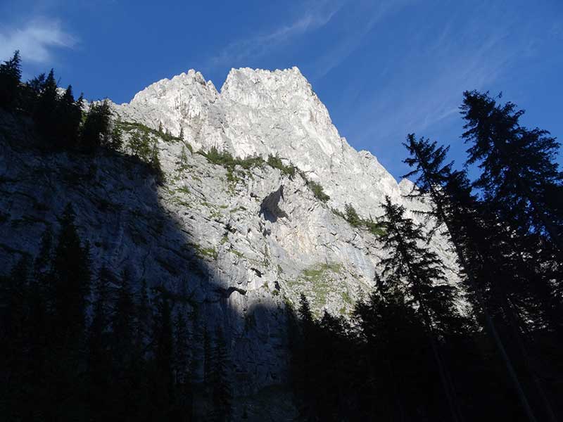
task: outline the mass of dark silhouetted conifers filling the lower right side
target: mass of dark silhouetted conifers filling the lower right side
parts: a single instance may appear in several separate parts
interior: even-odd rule
[[[304,297],[290,314],[293,385],[308,420],[563,415],[559,143],[488,94],[465,92],[460,110],[467,165],[479,177],[455,170],[449,147],[407,136],[408,196],[431,199],[424,229],[387,199],[379,222],[387,255],[369,298],[350,319],[315,319]],[[457,309],[460,291],[426,246],[436,233],[457,252],[471,314]]]

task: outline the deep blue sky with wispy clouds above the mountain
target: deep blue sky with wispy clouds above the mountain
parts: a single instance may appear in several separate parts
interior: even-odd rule
[[[0,58],[14,49],[25,77],[53,67],[118,103],[189,68],[220,87],[230,68],[297,65],[341,135],[396,177],[409,132],[463,162],[466,89],[502,91],[563,139],[561,0],[0,0]]]

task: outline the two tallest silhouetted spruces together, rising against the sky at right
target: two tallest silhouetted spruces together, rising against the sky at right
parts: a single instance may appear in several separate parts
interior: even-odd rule
[[[472,183],[446,161],[448,148],[412,134],[405,162],[414,167],[407,176],[417,180],[409,196],[431,198],[433,231],[442,227],[455,245],[469,299],[523,413],[530,420],[553,421],[552,391],[561,375],[550,350],[562,344],[561,265],[548,226],[556,227],[561,214],[556,217],[553,205],[557,196],[548,199],[546,213],[538,214],[533,195],[561,188],[557,165],[550,161],[557,144],[545,131],[520,127],[522,112],[512,103],[498,106],[487,94],[466,92],[462,113],[468,129],[464,138],[473,144],[468,163],[479,163],[483,172]],[[529,195],[528,185],[536,193]],[[540,365],[559,375],[545,378]]]

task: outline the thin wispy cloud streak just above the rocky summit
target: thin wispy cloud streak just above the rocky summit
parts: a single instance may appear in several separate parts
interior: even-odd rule
[[[249,58],[260,58],[277,46],[327,25],[339,11],[342,1],[311,1],[299,18],[286,25],[239,39],[228,44],[210,59],[211,65],[234,65]]]

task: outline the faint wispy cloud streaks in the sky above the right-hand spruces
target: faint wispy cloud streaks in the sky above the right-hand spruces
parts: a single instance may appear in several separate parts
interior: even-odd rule
[[[362,142],[390,142],[398,132],[422,132],[457,115],[462,91],[486,89],[522,56],[521,45],[510,42],[511,26],[498,24],[491,31],[472,22],[454,31],[455,23],[445,23],[434,42],[414,44],[392,58],[395,75],[382,78],[386,83],[355,118],[353,126],[363,124],[358,130]]]

